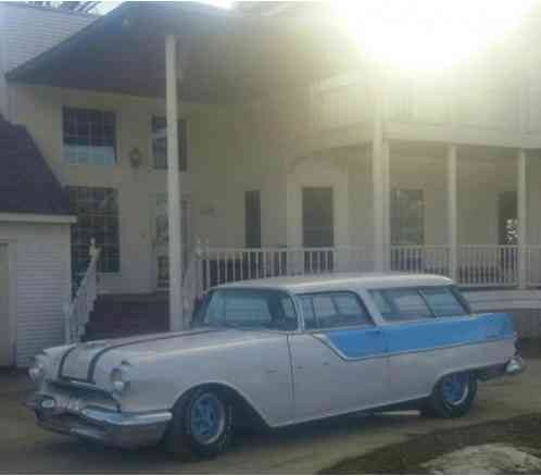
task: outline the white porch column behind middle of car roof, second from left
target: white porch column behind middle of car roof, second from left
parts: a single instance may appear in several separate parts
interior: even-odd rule
[[[390,268],[390,153],[383,135],[381,82],[374,89],[374,129],[372,138],[372,181],[374,206],[374,271]]]

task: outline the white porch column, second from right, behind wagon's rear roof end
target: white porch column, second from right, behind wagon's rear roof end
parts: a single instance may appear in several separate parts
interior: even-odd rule
[[[458,270],[457,150],[454,145],[448,148],[448,234],[449,277],[456,280]]]

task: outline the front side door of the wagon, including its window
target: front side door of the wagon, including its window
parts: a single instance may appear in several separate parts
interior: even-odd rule
[[[304,330],[289,336],[297,421],[379,404],[387,345],[352,291],[299,295]]]

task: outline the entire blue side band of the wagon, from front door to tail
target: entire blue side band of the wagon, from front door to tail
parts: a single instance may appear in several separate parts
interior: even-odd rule
[[[415,352],[441,347],[481,343],[515,337],[507,314],[481,314],[404,322],[376,328],[339,329],[323,333],[348,359]]]

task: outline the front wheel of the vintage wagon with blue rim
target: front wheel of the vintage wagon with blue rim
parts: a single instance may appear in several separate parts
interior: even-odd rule
[[[232,405],[222,392],[194,390],[175,405],[166,435],[167,449],[201,458],[223,453],[231,441],[232,415]]]

